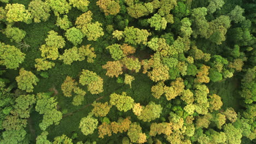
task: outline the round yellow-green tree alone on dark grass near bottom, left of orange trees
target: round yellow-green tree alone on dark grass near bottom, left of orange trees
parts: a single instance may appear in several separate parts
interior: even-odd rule
[[[81,119],[79,128],[81,129],[84,135],[89,135],[94,133],[94,130],[97,128],[98,121],[96,118],[87,116]]]

